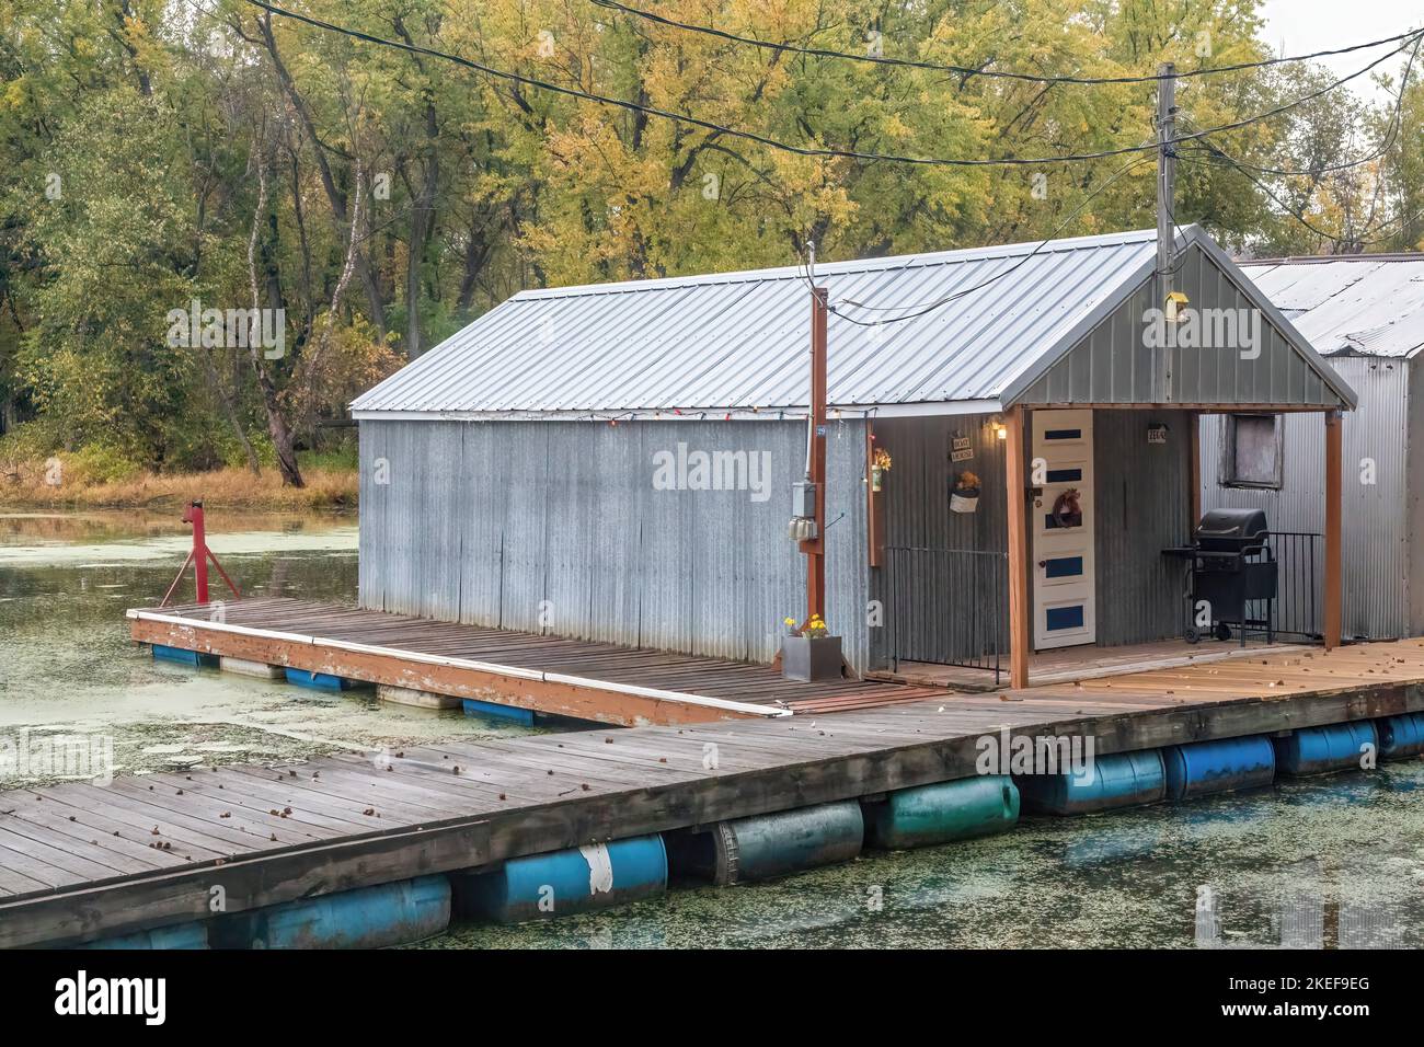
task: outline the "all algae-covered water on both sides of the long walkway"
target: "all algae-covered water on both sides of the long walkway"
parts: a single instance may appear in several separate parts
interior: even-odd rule
[[[0,513],[0,738],[101,735],[114,773],[525,734],[154,662],[124,610],[188,547],[171,513]],[[244,591],[352,601],[349,517],[209,513]],[[191,581],[188,583],[191,593]],[[185,597],[191,598],[191,597]],[[63,775],[20,768],[0,789]],[[3,809],[3,792],[0,792]],[[426,949],[1424,946],[1424,762],[1002,836],[867,853],[773,883],[675,886],[597,916],[456,923]]]

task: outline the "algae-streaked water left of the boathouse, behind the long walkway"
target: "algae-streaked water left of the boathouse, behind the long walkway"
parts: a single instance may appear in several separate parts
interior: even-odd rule
[[[172,583],[191,544],[179,514],[0,513],[0,736],[26,751],[101,739],[104,769],[144,773],[525,732],[460,709],[379,704],[375,691],[328,695],[154,661],[130,641],[124,611],[157,604]],[[208,528],[245,595],[356,598],[355,517],[209,510]],[[215,574],[212,584],[216,597]],[[189,570],[175,600],[192,598]],[[30,759],[0,775],[0,789],[54,781],[63,773]]]

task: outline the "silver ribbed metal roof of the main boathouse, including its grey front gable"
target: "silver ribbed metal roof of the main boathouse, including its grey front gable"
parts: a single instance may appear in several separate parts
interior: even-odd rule
[[[1176,279],[1265,315],[1265,356],[1195,353],[1178,403],[1353,406],[1326,366],[1198,226]],[[829,288],[829,402],[881,413],[1010,403],[1152,402],[1141,318],[1156,232],[817,265]],[[810,295],[802,268],[525,291],[352,405],[357,419],[591,417],[802,410]],[[926,309],[926,303],[937,303]],[[867,326],[866,322],[894,319]],[[860,321],[859,323],[854,321]],[[1074,352],[1077,350],[1077,352]]]

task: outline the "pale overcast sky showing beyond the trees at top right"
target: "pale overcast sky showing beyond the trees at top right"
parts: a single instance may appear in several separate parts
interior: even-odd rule
[[[1273,51],[1280,53],[1284,44],[1286,54],[1307,54],[1327,47],[1361,44],[1424,26],[1424,0],[1265,0],[1262,14],[1266,27],[1260,36]],[[1386,51],[1388,47],[1356,51],[1321,58],[1321,63],[1343,75]],[[1424,51],[1420,56],[1424,58]],[[1403,58],[1380,66],[1396,75],[1401,67]],[[1410,80],[1413,81],[1413,75]],[[1378,90],[1368,74],[1351,80],[1350,87],[1367,97],[1376,97]]]

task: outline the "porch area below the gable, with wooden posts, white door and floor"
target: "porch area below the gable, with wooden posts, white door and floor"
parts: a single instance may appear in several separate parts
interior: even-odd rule
[[[894,464],[871,494],[884,621],[869,675],[997,689],[1337,645],[1339,511],[1324,533],[1262,536],[1269,600],[1240,614],[1195,598],[1183,548],[1202,517],[1202,413],[1018,407],[877,424]],[[1339,506],[1339,423],[1321,439]]]

